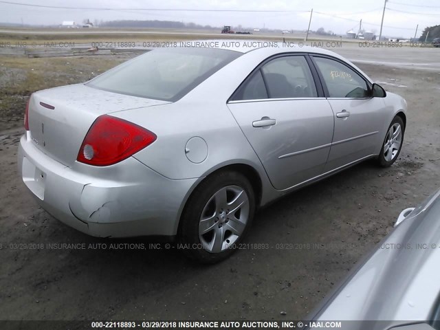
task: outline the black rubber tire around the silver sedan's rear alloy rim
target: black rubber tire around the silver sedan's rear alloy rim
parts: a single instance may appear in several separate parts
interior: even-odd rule
[[[225,250],[217,253],[208,252],[208,250],[204,248],[205,245],[203,245],[206,244],[204,236],[202,236],[202,238],[199,236],[199,224],[201,223],[202,212],[207,210],[207,208],[209,209],[210,204],[208,204],[208,202],[215,204],[215,202],[212,201],[212,198],[214,198],[214,195],[217,192],[223,189],[229,189],[228,187],[239,187],[248,197],[249,208],[248,210],[246,209],[246,211],[243,211],[243,214],[247,214],[244,230],[240,235],[238,235],[238,238],[234,238],[235,241],[231,242],[230,245],[227,244],[230,246],[230,248],[226,248]],[[232,197],[234,196],[232,195]],[[242,197],[245,198],[246,196],[242,195]],[[228,197],[226,199],[228,199]],[[245,203],[243,203],[243,208],[245,208]],[[213,214],[217,214],[215,207],[212,208],[212,210],[214,210]],[[240,211],[237,212],[240,212],[239,217],[241,217],[241,208]],[[199,263],[217,263],[228,258],[228,256],[234,253],[237,244],[240,243],[245,234],[248,232],[250,225],[252,224],[252,219],[254,218],[254,213],[254,190],[249,180],[244,175],[235,171],[224,171],[207,177],[201,182],[201,184],[199,184],[199,186],[197,186],[197,188],[195,188],[194,192],[192,192],[192,195],[186,202],[184,212],[181,216],[179,224],[179,243],[181,250],[183,250],[184,254],[186,254],[188,258]],[[217,217],[217,219],[219,218]],[[228,219],[224,219],[223,216],[223,219],[221,219],[219,222],[217,221],[219,220],[215,220],[216,223],[220,223],[221,221],[228,221]],[[234,221],[231,221],[230,224],[234,224]],[[221,230],[225,230],[225,232],[228,233],[228,229],[225,229],[228,225],[226,223],[223,223],[222,225],[225,227],[221,228]],[[217,230],[217,228],[212,229],[212,231],[215,230]],[[210,233],[211,232],[208,232],[208,234]],[[233,234],[232,232],[230,233]],[[214,234],[212,235],[214,239]],[[225,234],[225,239],[226,238],[228,238],[228,236]]]

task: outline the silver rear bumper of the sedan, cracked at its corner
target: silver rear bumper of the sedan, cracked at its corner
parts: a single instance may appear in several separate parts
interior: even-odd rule
[[[97,168],[67,167],[23,135],[18,170],[39,205],[63,223],[91,236],[173,236],[197,179],[172,180],[129,157]]]

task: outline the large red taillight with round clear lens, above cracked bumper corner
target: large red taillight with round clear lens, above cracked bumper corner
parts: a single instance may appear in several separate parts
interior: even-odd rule
[[[110,115],[101,115],[91,125],[76,160],[108,166],[124,160],[152,144],[155,133]]]

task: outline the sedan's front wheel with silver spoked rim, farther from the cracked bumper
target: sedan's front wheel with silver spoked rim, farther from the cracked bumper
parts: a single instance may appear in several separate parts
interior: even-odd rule
[[[404,143],[404,133],[404,122],[399,116],[396,116],[388,127],[384,144],[382,144],[382,149],[377,159],[380,166],[391,166],[399,157],[401,146]]]

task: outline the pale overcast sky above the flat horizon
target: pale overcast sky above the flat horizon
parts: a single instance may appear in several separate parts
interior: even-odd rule
[[[279,28],[306,30],[310,10],[314,9],[311,30],[325,28],[337,34],[358,31],[359,21],[365,30],[379,33],[384,0],[8,0],[14,3],[52,5],[74,8],[108,8],[107,10],[66,10],[36,8],[0,2],[0,22],[28,24],[61,24],[62,21],[110,21],[118,19],[167,20],[194,22],[202,25],[242,25],[243,28]],[[406,4],[406,5],[405,5]],[[426,26],[440,24],[439,0],[388,0],[384,36],[417,36]],[[133,8],[133,10],[118,10]],[[137,8],[134,9],[134,8]],[[151,11],[140,8],[188,10],[281,10],[283,12],[191,12]],[[111,10],[109,10],[111,9]],[[304,11],[304,12],[301,12]]]

